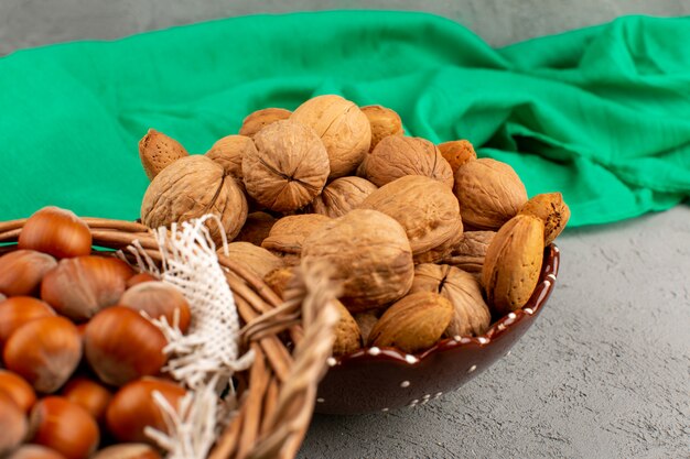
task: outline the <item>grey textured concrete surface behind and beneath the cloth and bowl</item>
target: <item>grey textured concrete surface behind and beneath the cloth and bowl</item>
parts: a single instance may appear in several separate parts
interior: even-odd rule
[[[0,0],[0,55],[229,15],[345,7],[434,12],[496,46],[621,14],[690,14],[680,0]],[[558,242],[556,292],[510,357],[424,406],[315,416],[300,457],[690,458],[690,207],[571,230]]]

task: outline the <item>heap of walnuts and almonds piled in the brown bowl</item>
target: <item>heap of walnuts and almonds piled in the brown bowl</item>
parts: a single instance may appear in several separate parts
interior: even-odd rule
[[[406,136],[393,110],[339,96],[256,111],[205,155],[153,130],[139,151],[152,181],[143,223],[215,214],[214,240],[225,231],[230,255],[279,295],[299,263],[335,267],[336,356],[485,334],[527,303],[570,217],[560,193],[528,199],[470,142]]]

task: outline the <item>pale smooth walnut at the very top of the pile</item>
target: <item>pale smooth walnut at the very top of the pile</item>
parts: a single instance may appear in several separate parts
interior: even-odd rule
[[[339,96],[309,99],[290,117],[321,136],[328,152],[328,178],[343,177],[357,168],[371,144],[371,125],[354,102]]]

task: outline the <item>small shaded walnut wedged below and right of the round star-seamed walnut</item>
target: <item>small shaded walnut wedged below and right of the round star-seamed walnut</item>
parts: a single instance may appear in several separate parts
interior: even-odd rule
[[[362,177],[341,177],[331,182],[312,203],[316,214],[341,217],[359,206],[378,187]]]

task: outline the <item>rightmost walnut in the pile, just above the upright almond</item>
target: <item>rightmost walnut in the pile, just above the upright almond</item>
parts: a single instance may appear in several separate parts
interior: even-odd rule
[[[475,230],[497,230],[527,203],[525,185],[513,167],[490,159],[463,164],[453,192],[463,223]]]

